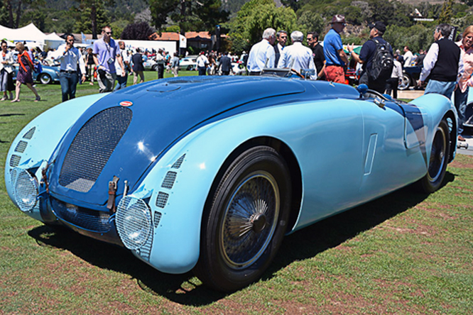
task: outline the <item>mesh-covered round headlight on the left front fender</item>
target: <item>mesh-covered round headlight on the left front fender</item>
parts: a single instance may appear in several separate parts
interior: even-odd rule
[[[15,167],[11,172],[13,197],[21,211],[31,211],[38,202],[38,179],[26,170]]]

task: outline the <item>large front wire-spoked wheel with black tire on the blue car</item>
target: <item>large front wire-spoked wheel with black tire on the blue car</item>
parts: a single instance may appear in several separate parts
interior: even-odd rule
[[[219,177],[202,217],[195,275],[232,292],[261,277],[286,233],[290,176],[281,155],[266,146],[241,153]]]

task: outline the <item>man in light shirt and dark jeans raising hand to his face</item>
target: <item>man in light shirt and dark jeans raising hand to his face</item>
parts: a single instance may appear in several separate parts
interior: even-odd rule
[[[82,83],[85,82],[85,62],[80,50],[74,47],[74,36],[67,34],[66,43],[58,47],[55,59],[61,62],[59,82],[61,84],[62,101],[75,98],[75,90],[79,76],[77,65],[82,73]]]

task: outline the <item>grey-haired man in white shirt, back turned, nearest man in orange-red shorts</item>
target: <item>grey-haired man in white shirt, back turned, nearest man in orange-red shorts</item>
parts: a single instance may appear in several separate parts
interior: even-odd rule
[[[302,44],[304,34],[301,31],[293,31],[293,33],[290,33],[290,40],[292,40],[293,45],[284,48],[278,62],[278,68],[291,68],[299,72],[301,69],[314,70],[311,79],[317,79],[312,50]]]

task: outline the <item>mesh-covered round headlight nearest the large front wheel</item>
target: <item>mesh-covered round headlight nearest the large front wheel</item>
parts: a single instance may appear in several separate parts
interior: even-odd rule
[[[116,231],[130,250],[141,248],[151,234],[151,212],[142,199],[124,197],[116,208]]]

